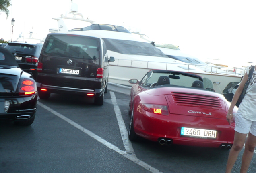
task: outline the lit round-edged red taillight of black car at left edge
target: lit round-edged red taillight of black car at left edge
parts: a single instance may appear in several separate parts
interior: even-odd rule
[[[35,82],[31,79],[23,79],[19,89],[19,95],[32,95],[37,91]]]

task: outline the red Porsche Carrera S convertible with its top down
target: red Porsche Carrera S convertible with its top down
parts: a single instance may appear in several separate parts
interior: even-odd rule
[[[150,70],[140,82],[129,82],[134,84],[129,105],[131,141],[143,137],[161,145],[231,148],[235,123],[226,120],[230,103],[204,88],[201,76]]]

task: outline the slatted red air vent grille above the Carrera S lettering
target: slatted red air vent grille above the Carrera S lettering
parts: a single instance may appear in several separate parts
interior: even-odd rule
[[[174,103],[184,106],[203,106],[223,108],[221,101],[216,97],[207,95],[196,95],[193,93],[180,93],[172,95]]]

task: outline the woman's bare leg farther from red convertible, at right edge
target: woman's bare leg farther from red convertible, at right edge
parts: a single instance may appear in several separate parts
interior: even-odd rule
[[[244,147],[244,154],[242,157],[242,166],[240,169],[240,173],[247,172],[252,160],[255,146],[256,146],[256,136],[249,133],[248,138],[246,139],[245,147]]]

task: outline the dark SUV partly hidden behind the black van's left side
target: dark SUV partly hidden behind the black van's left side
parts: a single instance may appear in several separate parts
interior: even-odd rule
[[[35,80],[37,76],[37,64],[43,44],[29,44],[26,42],[10,42],[4,48],[10,50],[15,56],[20,68],[32,74]]]

